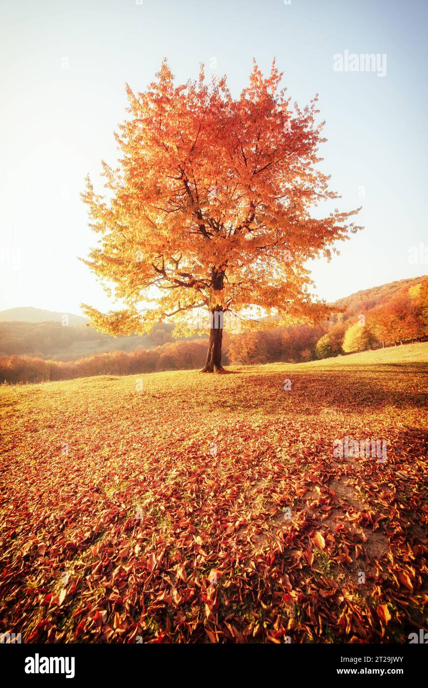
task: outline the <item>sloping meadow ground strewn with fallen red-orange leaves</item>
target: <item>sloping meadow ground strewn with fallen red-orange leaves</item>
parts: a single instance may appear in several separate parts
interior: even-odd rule
[[[428,345],[400,349],[404,363],[387,350],[372,365],[3,387],[0,630],[118,643],[427,630]],[[333,458],[344,436],[386,440],[386,462]]]

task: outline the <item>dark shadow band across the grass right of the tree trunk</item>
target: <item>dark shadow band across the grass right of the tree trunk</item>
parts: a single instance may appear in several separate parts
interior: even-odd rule
[[[387,407],[423,409],[428,406],[427,372],[426,364],[295,371],[291,365],[281,374],[245,369],[232,371],[240,374],[234,378],[239,383],[221,385],[215,403],[207,398],[202,406],[275,416],[317,416],[322,411],[381,413]],[[289,390],[284,389],[285,378],[291,380]]]

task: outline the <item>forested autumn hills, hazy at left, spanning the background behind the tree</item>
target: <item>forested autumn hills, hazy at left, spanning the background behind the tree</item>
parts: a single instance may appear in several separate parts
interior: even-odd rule
[[[243,365],[328,358],[428,336],[428,277],[357,292],[334,304],[341,312],[319,325],[224,335],[224,363]],[[138,374],[201,367],[206,336],[174,340],[171,323],[144,336],[101,334],[87,325],[0,323],[0,382],[32,383],[100,374]]]

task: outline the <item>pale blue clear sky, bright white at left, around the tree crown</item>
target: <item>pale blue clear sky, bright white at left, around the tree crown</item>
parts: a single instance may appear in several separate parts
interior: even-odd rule
[[[275,56],[293,101],[319,93],[322,169],[365,225],[311,266],[320,297],[428,272],[409,263],[428,247],[427,0],[139,1],[1,0],[0,310],[111,307],[77,259],[96,239],[79,193],[116,160],[125,82],[144,90],[164,56],[180,82],[203,62],[236,95],[253,57],[266,73]],[[345,51],[379,69],[335,71]]]

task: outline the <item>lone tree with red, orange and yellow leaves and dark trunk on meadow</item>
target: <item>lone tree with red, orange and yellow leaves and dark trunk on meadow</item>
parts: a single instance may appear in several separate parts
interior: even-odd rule
[[[317,96],[290,107],[273,62],[264,78],[254,63],[239,98],[226,78],[174,86],[164,61],[157,80],[135,95],[116,134],[116,169],[102,162],[106,195],[87,178],[82,194],[90,226],[100,234],[87,265],[126,306],[102,314],[83,304],[93,325],[110,334],[149,332],[173,318],[194,332],[196,314],[210,314],[203,372],[221,365],[223,314],[258,312],[276,323],[323,319],[311,300],[304,264],[359,229],[358,211],[311,211],[337,198],[317,168],[322,125]]]

